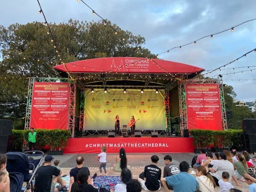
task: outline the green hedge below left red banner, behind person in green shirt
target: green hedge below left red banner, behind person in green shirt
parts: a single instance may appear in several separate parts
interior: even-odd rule
[[[62,150],[67,146],[68,138],[70,137],[69,130],[60,129],[36,129],[37,133],[37,148],[42,149],[45,146],[49,146],[51,150]],[[28,133],[29,130],[12,130],[12,135],[14,137],[14,147],[15,149],[20,149],[23,145],[23,140],[28,143]]]

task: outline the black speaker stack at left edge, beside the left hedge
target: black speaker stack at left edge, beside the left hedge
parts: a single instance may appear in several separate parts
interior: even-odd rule
[[[7,152],[9,137],[12,134],[12,120],[0,119],[0,153]]]

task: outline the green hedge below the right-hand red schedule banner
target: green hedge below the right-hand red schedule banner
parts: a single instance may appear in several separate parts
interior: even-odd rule
[[[227,131],[191,129],[190,134],[194,138],[197,148],[206,148],[209,145],[224,148],[229,145],[240,146],[243,131],[234,129]]]

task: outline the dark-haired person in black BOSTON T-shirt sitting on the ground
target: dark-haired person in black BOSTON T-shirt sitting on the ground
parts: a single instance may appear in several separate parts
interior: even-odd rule
[[[145,166],[144,180],[138,178],[138,181],[141,183],[141,186],[145,191],[160,190],[160,179],[162,170],[159,167],[157,167],[158,160],[159,157],[157,157],[157,155],[153,155],[151,157],[152,164]]]

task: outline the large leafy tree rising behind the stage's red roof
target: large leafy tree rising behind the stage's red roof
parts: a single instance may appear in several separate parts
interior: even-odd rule
[[[61,62],[100,57],[156,58],[142,47],[145,38],[108,23],[123,36],[103,21],[49,23],[52,35],[39,22],[0,26],[0,118],[12,117],[12,111],[16,118],[25,116],[28,78],[58,76],[52,67]]]

